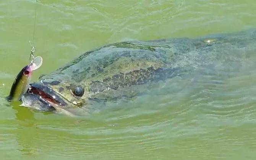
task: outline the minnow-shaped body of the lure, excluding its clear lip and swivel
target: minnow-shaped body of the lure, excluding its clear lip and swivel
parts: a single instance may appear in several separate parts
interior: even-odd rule
[[[32,66],[27,65],[21,69],[11,86],[8,101],[20,101],[21,97],[28,90],[32,76]]]

